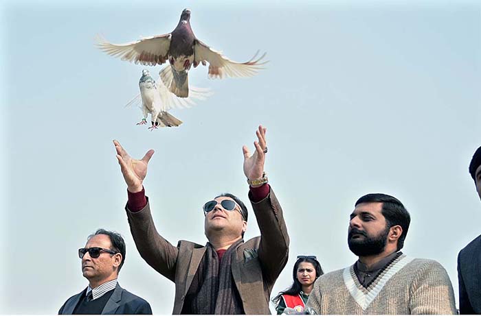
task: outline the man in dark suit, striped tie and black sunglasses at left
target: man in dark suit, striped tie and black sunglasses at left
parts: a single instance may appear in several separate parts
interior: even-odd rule
[[[97,230],[78,250],[82,274],[89,280],[84,291],[70,297],[58,314],[152,314],[146,300],[122,289],[117,282],[125,260],[125,242],[117,232]]]

